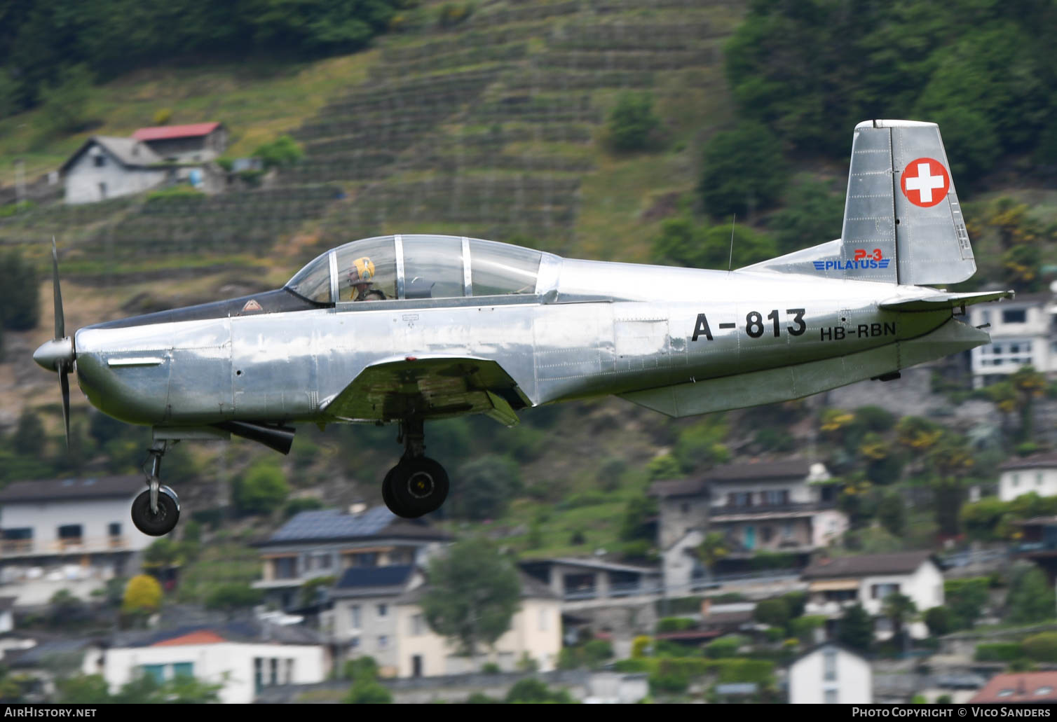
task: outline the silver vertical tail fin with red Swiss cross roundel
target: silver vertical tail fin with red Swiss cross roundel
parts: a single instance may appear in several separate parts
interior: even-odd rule
[[[840,239],[745,270],[906,285],[965,281],[977,270],[934,122],[855,127]]]

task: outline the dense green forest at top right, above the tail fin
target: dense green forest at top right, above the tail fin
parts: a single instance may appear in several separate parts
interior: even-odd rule
[[[755,3],[726,71],[745,115],[803,150],[842,156],[864,118],[938,121],[962,188],[962,171],[1037,141],[1057,83],[1038,28],[1053,22],[1041,4]]]

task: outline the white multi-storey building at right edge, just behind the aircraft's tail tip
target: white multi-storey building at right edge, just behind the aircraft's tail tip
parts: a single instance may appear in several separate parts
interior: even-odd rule
[[[985,307],[986,306],[986,307]],[[1001,304],[981,304],[968,310],[973,326],[990,324],[991,342],[969,352],[972,383],[980,388],[1003,379],[1021,366],[1044,374],[1057,372],[1057,339],[1053,293],[1017,293]]]

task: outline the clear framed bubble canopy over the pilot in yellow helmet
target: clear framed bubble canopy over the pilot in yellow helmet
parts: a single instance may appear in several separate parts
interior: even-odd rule
[[[322,253],[285,288],[314,303],[539,296],[558,256],[458,235],[382,235]],[[553,274],[548,273],[551,277]]]

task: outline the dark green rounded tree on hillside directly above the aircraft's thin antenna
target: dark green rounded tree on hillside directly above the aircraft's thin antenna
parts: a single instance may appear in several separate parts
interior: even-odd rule
[[[701,200],[717,217],[771,206],[789,177],[781,142],[758,122],[742,122],[712,136],[705,144],[703,165]]]

